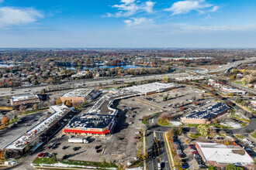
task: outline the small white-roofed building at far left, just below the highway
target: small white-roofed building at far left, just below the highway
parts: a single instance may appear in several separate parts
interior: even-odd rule
[[[12,105],[33,104],[33,103],[39,103],[40,98],[36,94],[26,93],[26,94],[12,96],[10,102]]]

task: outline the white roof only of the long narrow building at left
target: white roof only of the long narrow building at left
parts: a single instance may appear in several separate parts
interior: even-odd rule
[[[39,134],[42,131],[47,130],[48,124],[52,123],[57,119],[57,117],[60,117],[61,114],[64,113],[65,110],[69,110],[68,107],[65,105],[55,105],[51,106],[51,108],[54,110],[54,114],[51,114],[49,117],[47,117],[45,120],[41,121],[39,124],[36,124],[33,128],[31,128],[29,131],[25,132],[25,134],[22,134],[19,138],[17,138],[15,141],[12,141],[11,144],[6,146],[7,149],[22,149],[26,147],[26,142],[30,142],[33,140],[33,137],[35,137],[36,134]]]

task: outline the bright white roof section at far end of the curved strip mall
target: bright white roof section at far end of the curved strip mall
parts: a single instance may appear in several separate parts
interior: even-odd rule
[[[175,87],[175,84],[172,83],[146,83],[139,86],[126,87],[126,90],[131,90],[134,92],[147,93],[150,91],[156,91],[159,89],[166,89],[170,87]]]

